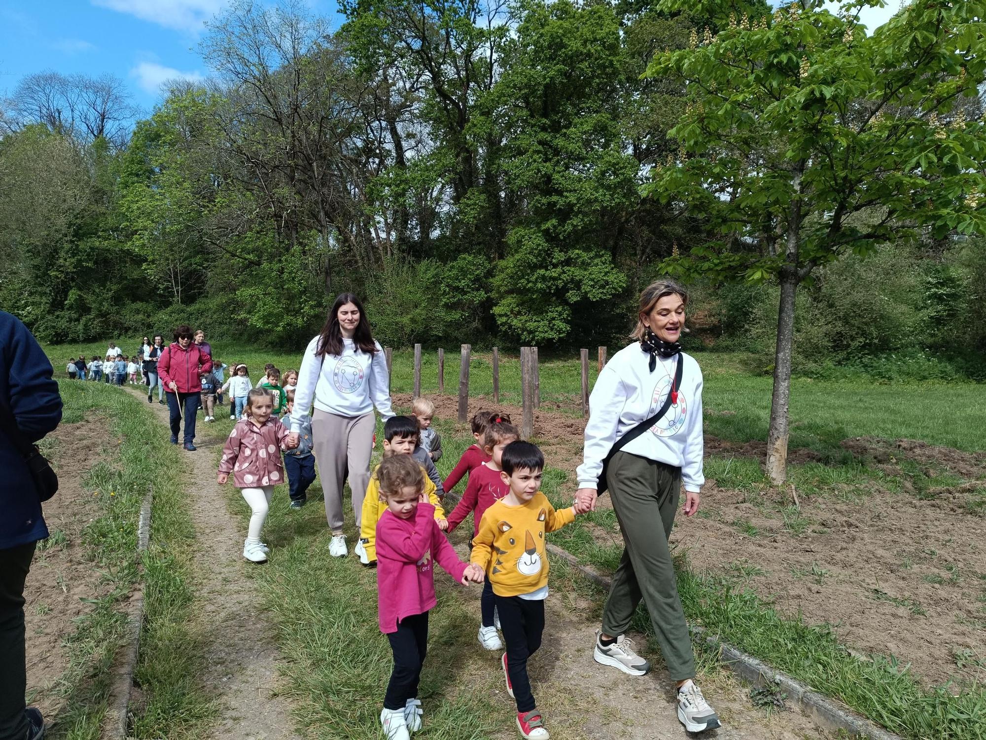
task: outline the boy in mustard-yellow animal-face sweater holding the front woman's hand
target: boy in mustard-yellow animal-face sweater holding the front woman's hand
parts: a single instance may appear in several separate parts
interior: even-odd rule
[[[530,693],[528,657],[541,646],[548,559],[544,536],[575,521],[575,507],[555,511],[540,491],[544,455],[529,442],[511,442],[500,472],[510,492],[483,513],[472,538],[471,560],[493,586],[507,643],[501,663],[507,691],[517,702],[517,726],[526,738],[547,740],[541,712]]]

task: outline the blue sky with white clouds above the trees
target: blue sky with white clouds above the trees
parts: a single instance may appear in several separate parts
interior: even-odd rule
[[[863,17],[871,29],[897,11],[900,0]],[[0,96],[26,74],[51,69],[124,80],[142,115],[174,77],[207,73],[196,45],[203,24],[229,0],[0,0]],[[834,5],[835,3],[831,3]],[[334,0],[308,0],[320,14]]]

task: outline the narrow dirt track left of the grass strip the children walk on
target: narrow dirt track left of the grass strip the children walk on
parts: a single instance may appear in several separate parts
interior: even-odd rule
[[[167,426],[168,408],[154,404],[153,409]],[[209,737],[301,740],[294,731],[293,706],[278,692],[274,630],[246,575],[244,533],[216,483],[214,456],[208,448],[181,454],[188,480],[194,481],[188,488],[198,564],[193,628],[206,650],[199,679],[220,703],[220,721]]]

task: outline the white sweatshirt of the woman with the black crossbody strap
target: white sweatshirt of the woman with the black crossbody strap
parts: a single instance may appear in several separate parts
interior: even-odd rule
[[[683,362],[677,404],[649,431],[623,448],[623,452],[681,469],[685,490],[697,491],[705,482],[702,474],[702,371],[684,352],[669,359],[658,357],[654,372],[650,355],[640,342],[623,347],[602,368],[589,398],[583,463],[576,471],[580,488],[595,488],[602,460],[626,432],[658,412],[671,390]]]

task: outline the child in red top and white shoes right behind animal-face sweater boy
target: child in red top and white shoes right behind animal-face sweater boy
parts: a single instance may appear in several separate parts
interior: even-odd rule
[[[503,481],[500,472],[503,470],[500,461],[503,458],[503,450],[511,442],[520,439],[521,435],[517,432],[517,427],[507,421],[503,421],[503,416],[494,416],[492,423],[486,426],[482,436],[483,454],[489,457],[482,465],[474,468],[469,474],[469,482],[465,486],[465,493],[462,500],[449,516],[450,534],[462,520],[472,512],[472,535],[479,533],[479,521],[483,518],[483,512],[493,505],[494,501],[499,501],[510,492],[510,485]],[[469,540],[469,550],[472,550],[472,541]],[[479,600],[480,614],[482,623],[479,625],[479,644],[487,650],[502,650],[503,642],[500,635],[499,620],[496,613],[496,602],[493,599],[493,588],[487,580],[483,583],[483,594]]]

